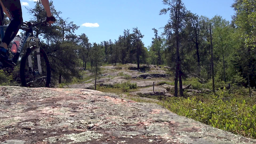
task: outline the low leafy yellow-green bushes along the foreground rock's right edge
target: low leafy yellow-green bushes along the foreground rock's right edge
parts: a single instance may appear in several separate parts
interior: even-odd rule
[[[229,94],[221,90],[208,102],[192,98],[170,98],[163,106],[178,115],[220,128],[234,134],[256,138],[256,105],[247,104],[246,100],[238,102],[235,98],[226,100]]]

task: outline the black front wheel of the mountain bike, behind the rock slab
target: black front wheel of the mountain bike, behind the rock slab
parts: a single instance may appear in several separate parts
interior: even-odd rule
[[[42,66],[42,74],[39,74],[36,60],[36,52],[28,48],[20,62],[20,80],[22,86],[26,87],[50,87],[51,70],[48,56],[42,48],[40,48],[40,62]],[[28,56],[32,56],[32,68],[28,67]],[[33,56],[34,55],[34,56]],[[43,73],[44,72],[44,73]]]

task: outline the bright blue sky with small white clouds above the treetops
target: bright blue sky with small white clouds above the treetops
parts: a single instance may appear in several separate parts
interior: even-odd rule
[[[33,8],[35,0],[20,0],[22,5],[23,21],[32,18],[26,8]],[[215,15],[231,21],[234,10],[230,6],[234,0],[182,0],[187,10],[212,18]],[[154,32],[163,32],[162,27],[167,24],[169,14],[159,15],[162,8],[168,6],[162,0],[53,0],[60,16],[80,26],[75,34],[86,34],[90,43],[118,40],[124,29],[138,27],[144,35],[144,46],[150,46]],[[25,8],[26,7],[26,8]]]

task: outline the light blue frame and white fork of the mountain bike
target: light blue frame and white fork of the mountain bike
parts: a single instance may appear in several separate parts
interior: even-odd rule
[[[1,34],[1,40],[4,37],[4,28],[7,28],[8,26],[0,26],[0,34]],[[41,61],[40,61],[40,47],[39,47],[39,39],[35,38],[33,36],[33,30],[30,28],[26,28],[24,26],[22,26],[20,29],[22,30],[26,30],[25,34],[22,36],[21,40],[20,40],[20,44],[17,48],[17,53],[14,54],[14,56],[12,57],[12,61],[14,63],[17,62],[18,58],[20,57],[20,53],[22,52],[24,46],[26,46],[27,48],[30,48],[31,50],[36,51],[36,57],[37,57],[37,64],[38,64],[38,72],[40,74],[42,74],[42,66],[41,66]],[[30,46],[30,40],[33,39],[34,42],[36,42],[35,45]],[[29,68],[33,68],[32,67],[32,56],[31,54],[28,56],[28,66]]]

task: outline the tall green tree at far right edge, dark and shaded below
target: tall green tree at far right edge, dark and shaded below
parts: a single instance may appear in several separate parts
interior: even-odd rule
[[[255,65],[254,58],[256,51],[256,28],[255,28],[255,0],[236,0],[232,5],[236,14],[234,16],[234,26],[237,28],[236,50],[234,51],[234,65],[243,78],[246,78],[248,86],[255,87]],[[244,85],[247,85],[244,84]]]

